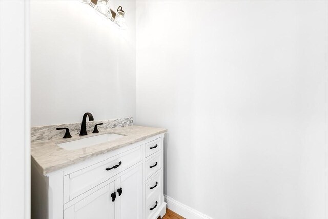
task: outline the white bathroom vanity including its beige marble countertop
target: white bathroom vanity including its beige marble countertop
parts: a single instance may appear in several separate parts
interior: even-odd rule
[[[32,142],[32,218],[163,217],[165,132],[132,125]]]

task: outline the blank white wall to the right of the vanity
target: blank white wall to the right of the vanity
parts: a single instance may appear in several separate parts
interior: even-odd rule
[[[136,124],[213,218],[328,217],[328,2],[137,1]]]

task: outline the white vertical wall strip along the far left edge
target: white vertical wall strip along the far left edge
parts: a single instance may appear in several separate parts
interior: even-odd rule
[[[0,1],[0,218],[30,218],[29,1]]]

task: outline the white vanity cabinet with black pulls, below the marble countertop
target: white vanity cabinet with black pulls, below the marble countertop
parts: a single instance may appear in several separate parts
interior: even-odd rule
[[[32,163],[32,218],[162,217],[163,137],[156,135],[46,176]]]

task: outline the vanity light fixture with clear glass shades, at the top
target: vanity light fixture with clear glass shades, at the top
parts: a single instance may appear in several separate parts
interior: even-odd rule
[[[80,0],[80,2],[88,3],[95,9],[98,15],[110,19],[119,29],[125,30],[127,28],[127,24],[125,23],[125,12],[122,6],[119,6],[117,11],[114,12],[109,7],[109,0]]]

